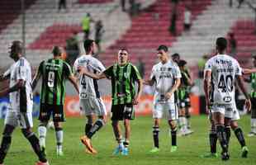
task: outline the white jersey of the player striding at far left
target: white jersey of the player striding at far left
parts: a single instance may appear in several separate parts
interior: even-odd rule
[[[10,111],[31,112],[33,106],[31,65],[24,57],[21,57],[16,63],[12,64],[4,75],[10,75],[10,87],[17,84],[18,80],[26,82],[25,87],[9,94]]]

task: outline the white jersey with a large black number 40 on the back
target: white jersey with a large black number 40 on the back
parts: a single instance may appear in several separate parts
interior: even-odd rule
[[[226,54],[218,54],[206,62],[206,71],[211,71],[212,102],[232,104],[235,101],[235,76],[242,75],[237,60]]]

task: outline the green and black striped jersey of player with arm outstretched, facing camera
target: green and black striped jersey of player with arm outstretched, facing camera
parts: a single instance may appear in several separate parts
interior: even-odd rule
[[[141,79],[138,69],[130,63],[114,64],[104,73],[111,78],[112,105],[131,103],[135,97],[135,81]]]

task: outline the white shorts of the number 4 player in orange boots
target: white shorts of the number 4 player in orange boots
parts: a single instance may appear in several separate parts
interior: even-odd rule
[[[80,99],[79,106],[84,115],[107,115],[106,106],[102,98]]]

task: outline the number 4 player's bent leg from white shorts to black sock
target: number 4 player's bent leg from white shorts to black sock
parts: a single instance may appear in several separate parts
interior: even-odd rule
[[[95,99],[94,111],[95,114],[98,115],[98,119],[95,121],[91,129],[86,134],[89,139],[92,139],[92,136],[107,123],[107,110],[102,99]]]

